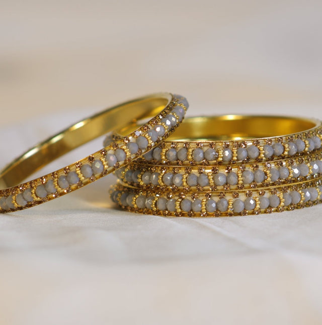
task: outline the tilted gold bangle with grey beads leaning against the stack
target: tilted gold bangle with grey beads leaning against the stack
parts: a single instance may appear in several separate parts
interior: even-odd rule
[[[28,150],[0,172],[0,212],[26,209],[87,185],[137,159],[174,132],[188,103],[180,95],[159,93],[114,106],[80,121]],[[63,154],[113,129],[151,118],[88,157],[21,183]]]

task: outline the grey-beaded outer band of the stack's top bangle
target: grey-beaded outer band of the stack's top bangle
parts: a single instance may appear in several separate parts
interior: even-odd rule
[[[194,145],[194,146],[193,146]],[[196,147],[197,145],[197,147]],[[239,146],[239,147],[238,147]],[[196,147],[196,148],[195,148]],[[231,147],[231,148],[229,148]],[[321,136],[314,135],[306,139],[272,144],[260,144],[258,141],[226,144],[218,143],[180,143],[166,142],[163,147],[156,147],[146,153],[142,163],[231,163],[245,161],[273,160],[280,157],[296,157],[304,153],[311,153],[321,148]]]

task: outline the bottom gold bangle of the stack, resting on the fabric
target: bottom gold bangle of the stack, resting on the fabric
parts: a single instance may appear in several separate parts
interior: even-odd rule
[[[322,203],[322,177],[267,189],[229,192],[155,191],[125,186],[110,189],[125,210],[176,217],[220,217],[282,212]]]

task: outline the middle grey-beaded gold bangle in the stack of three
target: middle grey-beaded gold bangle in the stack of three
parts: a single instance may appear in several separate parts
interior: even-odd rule
[[[131,163],[115,172],[126,185],[154,190],[229,191],[286,185],[322,174],[322,151],[262,163],[165,166]]]

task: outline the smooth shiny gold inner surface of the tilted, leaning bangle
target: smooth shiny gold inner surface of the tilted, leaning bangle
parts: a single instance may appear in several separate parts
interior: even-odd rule
[[[15,186],[28,176],[62,155],[114,129],[153,117],[171,101],[168,93],[160,93],[114,106],[84,119],[45,140],[13,161],[0,172],[0,188]]]

